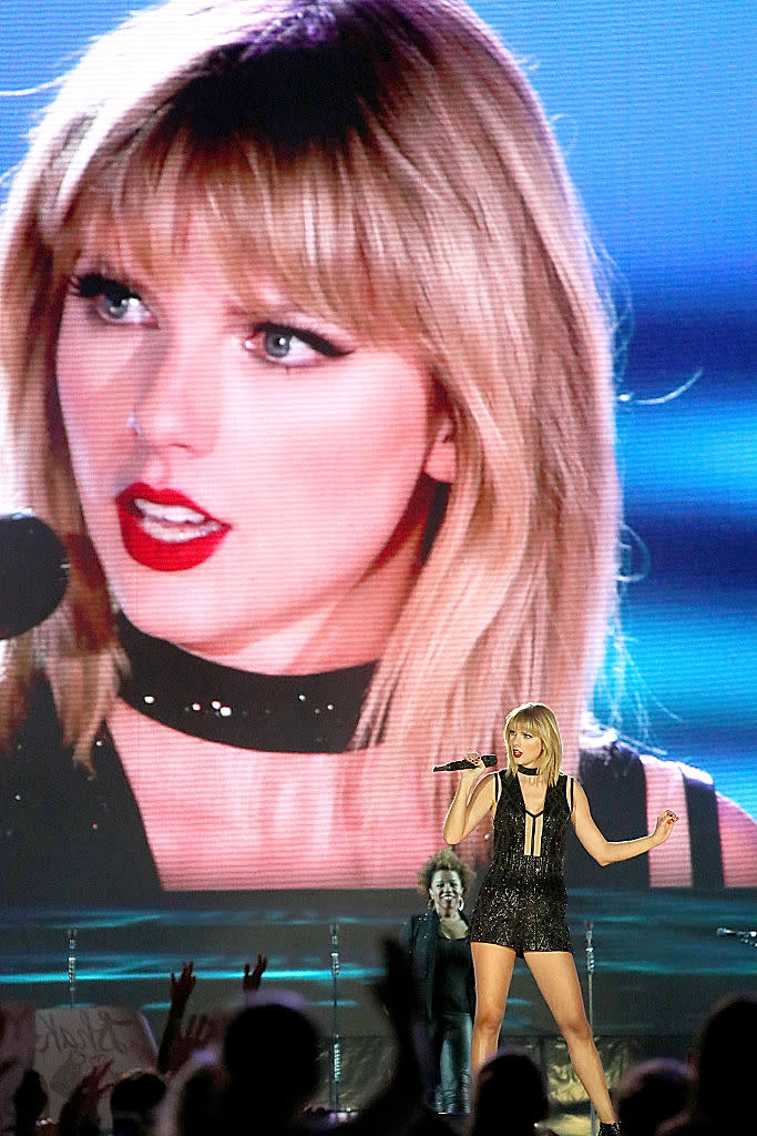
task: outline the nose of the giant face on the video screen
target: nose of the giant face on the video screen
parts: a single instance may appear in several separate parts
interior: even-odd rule
[[[137,364],[129,424],[154,450],[208,453],[216,442],[222,385],[213,374],[218,350],[201,335],[157,335]]]

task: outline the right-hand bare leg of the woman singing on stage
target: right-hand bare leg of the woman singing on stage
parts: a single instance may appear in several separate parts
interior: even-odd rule
[[[523,957],[552,1010],[557,1028],[567,1042],[571,1064],[597,1110],[599,1120],[612,1124],[616,1120],[615,1111],[583,1009],[573,955],[567,951],[527,951]]]

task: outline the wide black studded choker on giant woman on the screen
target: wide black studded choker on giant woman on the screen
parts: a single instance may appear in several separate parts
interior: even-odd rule
[[[376,665],[318,675],[260,675],[210,662],[118,617],[131,674],[120,696],[192,737],[264,753],[343,753]]]

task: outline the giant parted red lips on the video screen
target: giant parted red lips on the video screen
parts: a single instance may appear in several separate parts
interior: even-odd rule
[[[134,482],[116,498],[124,548],[154,571],[186,571],[208,560],[230,526],[177,490]]]

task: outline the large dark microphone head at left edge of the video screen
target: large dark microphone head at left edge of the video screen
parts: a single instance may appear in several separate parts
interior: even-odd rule
[[[60,538],[32,512],[0,517],[0,640],[14,638],[51,615],[68,584]]]

